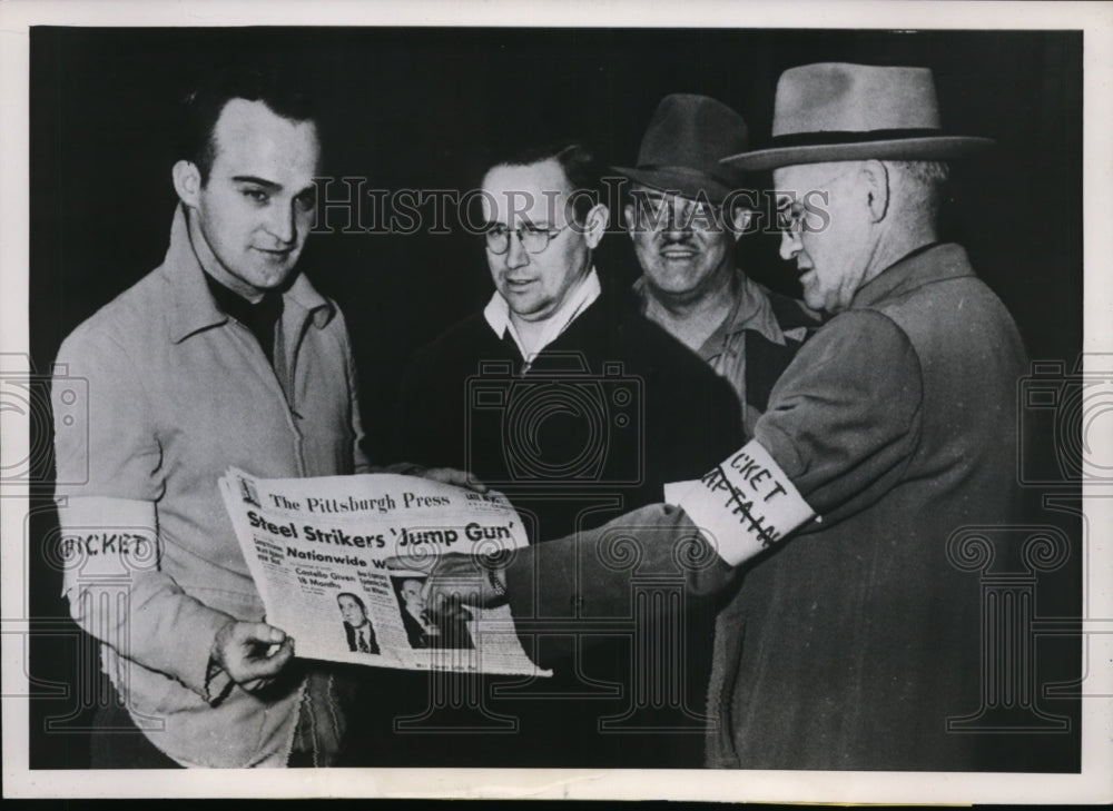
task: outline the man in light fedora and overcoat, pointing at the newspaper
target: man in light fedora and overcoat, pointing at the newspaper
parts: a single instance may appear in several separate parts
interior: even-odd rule
[[[726,162],[775,171],[789,201],[782,255],[808,304],[834,317],[749,443],[667,488],[677,506],[581,534],[579,561],[615,534],[664,534],[692,562],[690,589],[740,586],[736,633],[715,640],[708,765],[1007,768],[999,740],[971,732],[994,662],[981,583],[964,567],[979,530],[1020,517],[1025,354],[965,250],[936,230],[945,161],[987,141],[942,129],[929,70],[845,63],[786,71],[772,135]],[[662,545],[643,544],[642,565]],[[575,593],[602,611],[629,589],[624,572],[588,565],[590,589],[577,590],[572,543],[546,546],[541,566],[526,551],[493,570],[501,587],[480,596],[505,592],[513,610],[534,591]],[[452,591],[434,577],[432,603]]]

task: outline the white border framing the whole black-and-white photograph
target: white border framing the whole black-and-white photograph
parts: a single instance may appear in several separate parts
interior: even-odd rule
[[[487,2],[425,3],[273,2],[189,0],[155,4],[30,2],[0,4],[0,352],[28,353],[29,27],[52,26],[536,26],[569,27],[863,28],[888,30],[975,29],[1084,31],[1085,212],[1084,350],[1113,352],[1113,4],[1072,2],[752,2],[687,0],[684,3]],[[1110,421],[1103,443],[1113,442]],[[6,426],[10,423],[6,423]],[[23,458],[28,434],[7,431],[6,453]],[[3,484],[2,623],[3,791],[8,798],[72,797],[354,797],[669,799],[769,802],[969,803],[1109,802],[1113,763],[1113,635],[1091,639],[1087,674],[1100,698],[1085,699],[1081,774],[969,774],[886,772],[700,771],[693,773],[593,770],[279,770],[43,771],[28,768],[26,646],[27,561],[23,536],[27,492]],[[1113,622],[1111,537],[1113,501],[1086,485],[1091,545],[1084,562],[1085,620]],[[8,698],[12,696],[12,698]]]

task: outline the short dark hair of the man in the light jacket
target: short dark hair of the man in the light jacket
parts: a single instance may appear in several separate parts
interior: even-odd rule
[[[262,101],[290,121],[315,121],[313,95],[290,71],[274,66],[220,67],[204,75],[181,100],[178,158],[191,161],[208,180],[216,160],[216,122],[233,99]]]

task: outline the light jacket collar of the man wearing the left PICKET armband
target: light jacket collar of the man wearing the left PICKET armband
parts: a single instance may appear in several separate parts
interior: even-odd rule
[[[171,342],[180,343],[195,333],[228,320],[209,291],[205,271],[189,239],[186,210],[181,204],[174,212],[170,247],[166,251],[161,273],[170,287],[173,301],[167,318]],[[294,277],[294,283],[283,294],[283,305],[287,310],[293,306],[311,315],[318,329],[328,324],[335,311],[328,299],[317,293],[302,273]]]

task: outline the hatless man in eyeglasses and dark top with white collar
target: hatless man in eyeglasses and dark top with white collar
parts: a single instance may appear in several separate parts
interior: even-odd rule
[[[701,475],[742,436],[729,384],[643,318],[627,290],[608,289],[597,271],[594,250],[609,222],[598,184],[590,151],[568,141],[531,147],[491,166],[480,202],[494,294],[482,311],[420,350],[404,384],[407,458],[437,466],[455,461],[504,492],[534,542],[659,501],[666,482]],[[534,609],[539,617],[577,619],[568,602]],[[562,631],[577,633],[572,625]],[[691,641],[687,661],[709,659],[708,636]],[[546,642],[539,640],[541,659]],[[503,736],[506,759],[489,762],[682,765],[669,754],[668,735],[595,731],[600,718],[621,714],[630,703],[629,689],[602,701],[613,689],[590,683],[628,681],[614,663],[629,667],[630,649],[618,651],[618,644],[604,645],[605,654],[591,660],[578,652],[572,661],[550,662],[565,696],[542,702],[538,723],[548,729],[523,729],[528,746],[521,738]],[[698,704],[706,685],[699,670],[693,666],[686,682],[670,689],[689,689],[690,703]],[[498,701],[489,706],[500,710]],[[584,734],[568,745],[552,725],[579,729],[579,710],[587,710]],[[532,732],[545,740],[538,742]],[[678,749],[687,756],[691,735],[674,736],[681,738]]]

